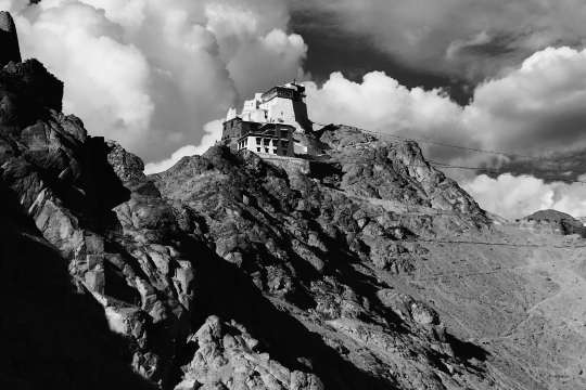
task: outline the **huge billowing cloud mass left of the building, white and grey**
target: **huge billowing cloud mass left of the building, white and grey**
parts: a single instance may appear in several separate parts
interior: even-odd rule
[[[205,123],[303,75],[284,0],[0,0],[25,57],[65,82],[64,110],[148,161],[198,145]]]

